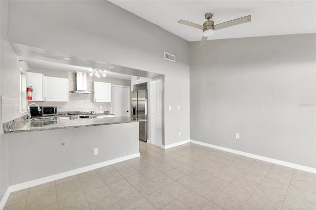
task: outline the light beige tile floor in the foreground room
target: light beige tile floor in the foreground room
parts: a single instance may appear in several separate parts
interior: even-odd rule
[[[315,210],[316,175],[193,143],[11,193],[4,210]]]

